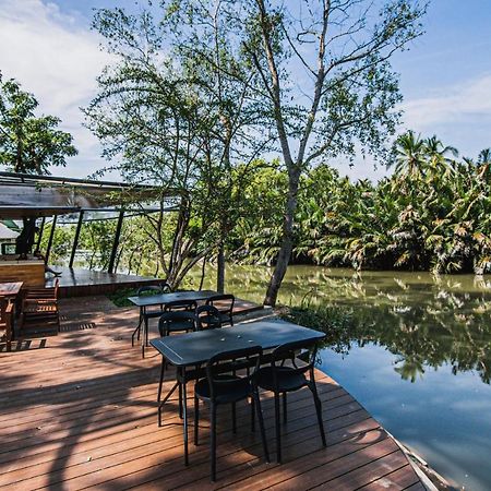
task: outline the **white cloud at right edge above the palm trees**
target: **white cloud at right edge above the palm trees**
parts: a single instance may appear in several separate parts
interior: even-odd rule
[[[432,96],[404,103],[402,108],[407,128],[418,131],[432,131],[440,124],[491,118],[491,75],[482,75],[452,87],[441,87]]]

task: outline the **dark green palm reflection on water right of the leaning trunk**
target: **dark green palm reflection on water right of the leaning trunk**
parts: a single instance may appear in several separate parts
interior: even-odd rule
[[[415,382],[427,367],[448,364],[454,374],[475,370],[489,384],[491,296],[453,288],[455,282],[388,286],[331,277],[323,295],[315,292],[290,315],[325,331],[326,345],[339,352],[367,343],[388,349],[398,356],[395,371],[405,380]]]

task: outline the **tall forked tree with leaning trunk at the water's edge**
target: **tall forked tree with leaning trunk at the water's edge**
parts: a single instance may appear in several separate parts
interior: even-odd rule
[[[288,171],[283,242],[264,302],[275,304],[294,247],[300,176],[319,157],[380,154],[400,100],[391,56],[421,35],[426,4],[304,0],[246,2],[243,48],[263,84]],[[376,21],[373,21],[376,19]]]

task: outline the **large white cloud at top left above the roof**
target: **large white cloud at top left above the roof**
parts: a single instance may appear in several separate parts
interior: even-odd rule
[[[0,70],[34,93],[39,110],[61,118],[79,156],[55,173],[86,176],[104,161],[95,136],[82,127],[85,106],[96,93],[96,76],[108,61],[97,35],[74,16],[41,0],[0,0]]]

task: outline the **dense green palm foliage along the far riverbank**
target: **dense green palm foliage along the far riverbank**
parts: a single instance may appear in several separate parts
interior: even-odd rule
[[[491,271],[491,170],[457,160],[435,137],[397,139],[396,170],[376,185],[340,178],[327,165],[300,180],[294,259],[361,268]],[[482,157],[484,155],[484,158]],[[453,158],[450,158],[452,156]],[[236,228],[232,258],[271,264],[280,243],[285,176],[258,172],[250,214]]]

